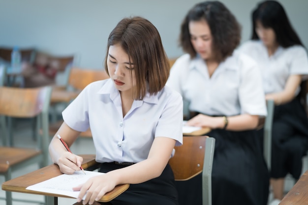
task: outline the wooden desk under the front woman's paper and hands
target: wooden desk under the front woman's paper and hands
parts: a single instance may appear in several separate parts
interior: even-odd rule
[[[82,167],[87,169],[95,164],[95,155],[94,154],[85,154],[80,155],[84,158]],[[71,198],[68,196],[58,195],[58,194],[51,194],[51,193],[44,193],[44,192],[37,192],[27,190],[26,188],[30,185],[39,183],[41,181],[45,181],[55,176],[60,176],[62,173],[60,172],[59,166],[52,164],[47,167],[41,168],[29,174],[19,176],[17,178],[5,181],[2,183],[2,190],[4,191],[11,191],[11,192],[21,192],[27,194],[38,194],[38,195],[45,195],[47,197],[47,205],[58,205],[58,197],[65,197]],[[38,177],[39,176],[39,177]],[[106,193],[99,202],[109,202],[113,200],[121,193],[123,193],[126,189],[128,189],[129,184],[122,184],[117,185],[112,191]]]

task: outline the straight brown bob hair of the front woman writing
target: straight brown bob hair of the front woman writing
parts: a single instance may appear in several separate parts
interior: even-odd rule
[[[107,73],[108,50],[115,44],[120,44],[134,63],[134,99],[143,99],[147,91],[156,94],[165,86],[170,65],[158,30],[150,21],[142,17],[124,18],[111,31],[104,62]]]

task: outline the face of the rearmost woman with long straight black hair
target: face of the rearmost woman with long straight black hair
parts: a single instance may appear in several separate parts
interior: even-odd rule
[[[274,29],[265,28],[260,21],[256,21],[255,31],[266,47],[276,46],[276,34]]]

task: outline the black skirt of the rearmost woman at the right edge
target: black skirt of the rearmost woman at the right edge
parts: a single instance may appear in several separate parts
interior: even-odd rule
[[[298,179],[308,149],[308,118],[299,99],[275,107],[272,131],[271,177]]]

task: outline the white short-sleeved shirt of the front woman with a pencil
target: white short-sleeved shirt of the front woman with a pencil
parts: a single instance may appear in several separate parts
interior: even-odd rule
[[[147,159],[155,137],[182,145],[183,101],[179,93],[163,88],[135,100],[123,117],[119,90],[111,79],[88,85],[62,112],[74,130],[91,128],[97,162],[140,162]]]

